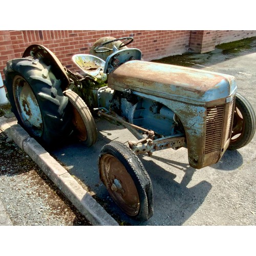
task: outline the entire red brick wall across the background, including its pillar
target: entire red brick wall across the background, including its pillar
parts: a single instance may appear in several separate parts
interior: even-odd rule
[[[77,70],[71,57],[89,53],[94,42],[103,36],[133,36],[129,47],[139,48],[144,60],[182,54],[187,51],[207,52],[222,42],[256,36],[256,31],[220,30],[0,30],[0,72],[6,61],[22,57],[31,44],[49,48],[63,66]]]

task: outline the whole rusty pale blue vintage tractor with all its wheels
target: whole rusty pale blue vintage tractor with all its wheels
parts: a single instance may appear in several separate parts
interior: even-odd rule
[[[18,123],[45,147],[67,138],[97,140],[93,115],[124,125],[137,138],[112,141],[99,153],[99,175],[129,216],[153,215],[153,188],[138,155],[186,147],[189,165],[217,163],[225,151],[247,145],[255,114],[235,78],[141,60],[133,38],[100,38],[90,54],[76,54],[80,72],[62,67],[46,47],[31,45],[4,69]]]

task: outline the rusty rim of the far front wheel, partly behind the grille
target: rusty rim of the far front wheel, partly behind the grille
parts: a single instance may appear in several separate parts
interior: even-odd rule
[[[238,107],[234,110],[232,133],[231,133],[231,143],[236,142],[241,136],[243,136],[245,131],[244,118]]]

